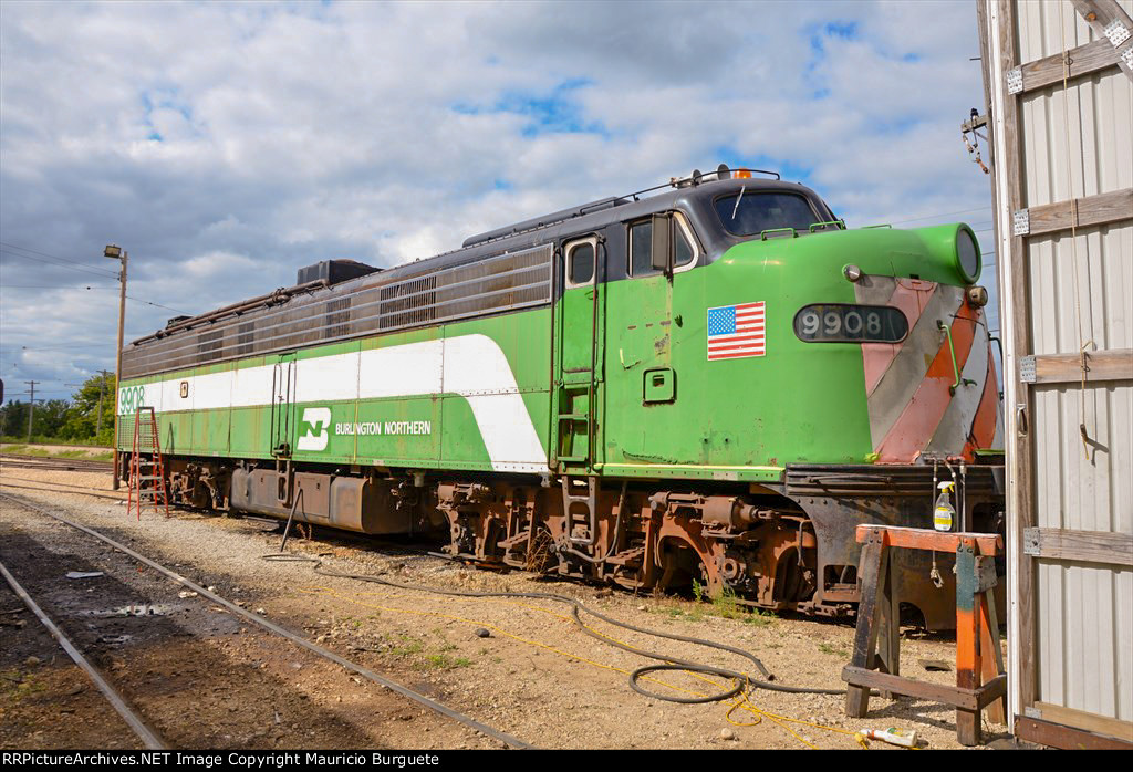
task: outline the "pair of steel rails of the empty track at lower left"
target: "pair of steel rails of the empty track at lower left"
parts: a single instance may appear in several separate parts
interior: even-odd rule
[[[428,709],[428,710],[431,710],[431,711],[433,711],[433,712],[435,712],[435,713],[437,713],[440,715],[446,717],[446,718],[449,718],[449,719],[451,719],[451,720],[453,720],[453,721],[455,721],[458,723],[461,723],[461,724],[468,727],[469,729],[472,729],[472,730],[475,730],[477,732],[480,732],[480,734],[486,735],[488,737],[492,737],[492,738],[494,738],[496,740],[500,740],[500,741],[502,741],[502,743],[504,743],[504,744],[506,744],[506,745],[509,745],[509,746],[511,746],[513,748],[529,748],[529,747],[531,747],[529,744],[527,744],[527,743],[525,743],[525,741],[522,741],[522,740],[520,740],[520,739],[518,739],[516,737],[512,737],[511,735],[502,732],[502,731],[500,731],[500,730],[497,730],[497,729],[495,729],[493,727],[489,727],[487,724],[480,723],[476,719],[472,719],[472,718],[470,718],[468,715],[465,715],[463,713],[460,713],[460,712],[458,712],[458,711],[449,707],[448,705],[444,705],[444,704],[442,704],[442,703],[433,700],[432,697],[428,697],[428,696],[426,696],[424,694],[415,692],[414,689],[410,689],[409,687],[406,687],[406,686],[403,686],[403,685],[401,685],[401,684],[399,684],[399,683],[397,683],[394,680],[391,680],[391,679],[386,678],[385,676],[382,676],[382,675],[375,672],[374,670],[370,670],[369,668],[367,668],[365,666],[358,664],[357,662],[352,662],[352,661],[350,661],[350,660],[348,660],[348,659],[346,659],[343,657],[340,657],[339,654],[334,653],[333,651],[330,651],[329,649],[325,649],[324,646],[318,645],[317,643],[308,641],[307,638],[303,637],[301,635],[298,635],[297,633],[293,633],[292,631],[287,629],[286,627],[283,627],[281,625],[278,625],[278,624],[271,621],[270,619],[266,619],[266,618],[259,616],[258,614],[254,614],[254,612],[252,612],[252,611],[249,611],[249,610],[240,607],[239,604],[237,604],[237,603],[228,600],[227,598],[223,598],[223,597],[216,594],[215,592],[213,592],[213,591],[211,591],[211,590],[208,590],[206,587],[203,587],[199,584],[196,584],[195,582],[189,581],[188,578],[181,576],[177,572],[171,571],[170,568],[167,568],[165,566],[156,563],[155,560],[152,560],[152,559],[150,559],[150,558],[147,558],[147,557],[145,557],[145,556],[136,552],[135,550],[130,549],[129,547],[126,547],[125,544],[121,544],[121,543],[114,541],[110,537],[107,537],[107,535],[100,533],[99,531],[95,531],[92,527],[88,527],[86,525],[83,525],[80,523],[71,521],[71,520],[69,520],[67,517],[63,517],[60,514],[50,512],[49,509],[46,509],[46,508],[44,508],[42,506],[39,506],[37,504],[28,501],[25,498],[22,498],[22,497],[18,497],[18,496],[14,496],[11,494],[0,492],[0,500],[8,501],[10,504],[15,504],[16,506],[19,506],[19,507],[23,507],[23,508],[28,509],[31,512],[35,512],[35,513],[37,513],[40,515],[50,517],[50,518],[56,520],[56,521],[58,521],[60,523],[69,525],[70,527],[76,529],[77,531],[80,531],[80,532],[83,532],[83,533],[85,533],[85,534],[87,534],[90,537],[93,537],[94,539],[97,539],[99,541],[101,541],[101,542],[108,544],[109,547],[118,550],[119,552],[121,552],[121,554],[123,554],[123,555],[133,558],[137,563],[140,563],[140,564],[143,564],[143,565],[145,565],[145,566],[147,566],[147,567],[150,567],[150,568],[152,568],[152,569],[154,569],[154,571],[163,574],[164,576],[173,580],[174,582],[184,585],[185,587],[187,587],[191,592],[195,592],[199,598],[208,600],[208,601],[212,601],[213,603],[220,604],[227,611],[236,615],[237,617],[240,617],[241,619],[244,619],[244,620],[246,620],[248,623],[252,623],[252,624],[258,626],[259,628],[262,628],[262,629],[264,629],[264,631],[266,631],[266,632],[269,632],[269,633],[271,633],[273,635],[276,635],[279,637],[286,638],[288,642],[290,642],[291,644],[293,644],[295,646],[304,649],[304,650],[306,650],[306,651],[308,651],[308,652],[310,652],[310,653],[313,653],[313,654],[315,654],[315,655],[317,655],[317,657],[320,657],[322,659],[325,659],[325,660],[327,660],[330,662],[333,662],[333,663],[335,663],[338,666],[341,666],[341,667],[346,668],[347,670],[350,670],[351,672],[353,672],[353,674],[356,674],[358,676],[361,676],[363,678],[366,678],[366,679],[368,679],[368,680],[370,680],[370,681],[373,681],[375,684],[384,686],[385,688],[390,689],[391,692],[400,694],[401,696],[407,697],[408,700],[417,703],[418,705],[424,706],[424,707],[426,707],[426,709]],[[108,701],[113,705],[114,710],[118,711],[118,713],[122,715],[122,718],[130,726],[130,728],[138,736],[138,738],[143,741],[143,744],[145,744],[145,746],[147,748],[167,747],[168,744],[165,743],[165,740],[160,735],[157,735],[156,731],[154,731],[150,727],[150,724],[146,722],[146,720],[142,715],[138,714],[138,712],[137,712],[136,709],[134,709],[131,705],[129,705],[129,703],[125,698],[122,698],[120,694],[118,694],[118,692],[113,688],[113,686],[111,686],[105,680],[104,676],[102,674],[100,674],[97,671],[97,669],[95,669],[93,666],[91,666],[91,663],[86,660],[86,657],[83,654],[83,652],[79,651],[79,649],[77,646],[75,646],[75,644],[71,643],[66,637],[66,635],[58,627],[58,625],[56,625],[50,619],[50,617],[42,610],[42,608],[40,608],[40,606],[31,597],[31,594],[28,594],[27,591],[22,585],[19,585],[17,578],[15,576],[12,576],[8,572],[8,569],[3,567],[2,564],[0,564],[0,574],[2,574],[5,576],[5,578],[8,581],[9,585],[12,587],[12,590],[16,592],[16,594],[20,597],[20,599],[24,601],[24,603],[33,611],[33,614],[36,615],[36,617],[40,619],[40,621],[43,623],[43,625],[51,632],[51,635],[59,642],[59,644],[65,649],[65,651],[67,651],[68,655],[76,662],[76,664],[78,664],[80,668],[83,668],[87,672],[87,675],[91,676],[92,680],[99,687],[100,692],[102,692],[107,696]]]

